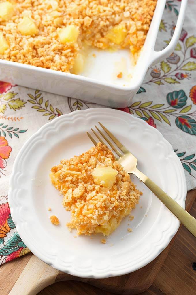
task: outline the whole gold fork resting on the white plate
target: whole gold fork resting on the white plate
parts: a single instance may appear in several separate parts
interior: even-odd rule
[[[115,148],[113,143],[108,139],[107,136],[95,125],[98,132],[102,135],[102,137],[106,140],[108,145],[115,151],[116,155],[115,159],[123,166],[124,170],[127,173],[132,173],[137,176],[146,186],[157,196],[160,201],[165,204],[165,206],[184,224],[184,226],[196,237],[196,219],[192,217],[185,209],[183,209],[176,201],[174,201],[170,196],[168,196],[158,185],[156,185],[150,178],[145,176],[141,171],[137,169],[138,159],[130,153],[130,151],[125,148],[124,145],[107,129],[103,124],[98,122],[100,126],[105,130],[111,140],[115,143],[115,145],[120,149],[120,151]],[[98,138],[98,140],[105,144],[102,138],[91,129]],[[94,145],[97,145],[96,140],[87,132],[88,137],[93,142]]]

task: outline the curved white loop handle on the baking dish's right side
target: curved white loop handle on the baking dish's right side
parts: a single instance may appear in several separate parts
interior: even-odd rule
[[[187,0],[182,0],[181,6],[180,6],[180,12],[178,15],[178,19],[177,19],[177,23],[176,23],[176,27],[175,27],[175,31],[173,33],[172,39],[165,49],[161,51],[155,51],[153,49],[151,65],[155,65],[156,63],[161,62],[162,60],[164,60],[165,58],[167,58],[170,54],[174,52],[180,37],[181,30],[182,30],[182,24],[185,17],[186,6],[187,6]]]

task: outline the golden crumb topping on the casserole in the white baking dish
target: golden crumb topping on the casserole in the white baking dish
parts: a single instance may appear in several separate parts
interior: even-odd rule
[[[69,72],[82,42],[101,49],[116,47],[106,34],[118,24],[123,24],[128,32],[118,47],[130,47],[132,53],[137,53],[144,44],[157,0],[10,1],[14,3],[14,15],[8,21],[0,19],[0,32],[9,49],[0,58]],[[18,32],[18,23],[24,16],[35,22],[37,35],[24,36]],[[76,25],[80,34],[77,42],[63,45],[57,29],[68,24]]]

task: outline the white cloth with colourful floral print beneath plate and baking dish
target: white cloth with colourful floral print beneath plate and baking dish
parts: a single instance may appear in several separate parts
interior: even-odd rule
[[[157,50],[169,43],[179,7],[179,0],[166,2]],[[195,13],[196,2],[190,0],[175,52],[149,69],[132,103],[122,109],[157,128],[171,143],[185,169],[188,190],[196,187]],[[0,82],[0,265],[29,252],[11,219],[7,198],[9,176],[21,146],[46,122],[97,106]]]

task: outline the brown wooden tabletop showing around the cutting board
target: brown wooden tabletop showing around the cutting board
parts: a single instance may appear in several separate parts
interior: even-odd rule
[[[196,190],[195,190],[196,195]],[[196,199],[190,209],[196,218]],[[12,260],[0,267],[0,294],[8,295],[16,278],[22,272],[31,253]],[[20,262],[19,262],[20,260]],[[55,283],[38,293],[39,295],[114,295],[94,286],[78,282]],[[143,295],[196,295],[196,240],[182,226],[167,258],[152,286]],[[26,295],[26,294],[21,294]],[[131,294],[130,294],[131,295]]]

